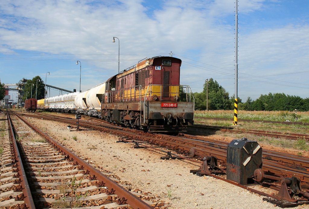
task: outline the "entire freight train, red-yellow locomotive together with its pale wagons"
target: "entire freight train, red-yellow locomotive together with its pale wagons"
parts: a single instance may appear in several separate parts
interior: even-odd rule
[[[148,132],[184,132],[193,124],[194,97],[180,85],[181,60],[158,56],[90,90],[38,100],[38,109],[96,116]]]

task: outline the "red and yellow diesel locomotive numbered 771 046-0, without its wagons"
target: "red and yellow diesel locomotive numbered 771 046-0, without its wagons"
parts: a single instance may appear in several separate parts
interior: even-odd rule
[[[181,60],[152,57],[106,82],[101,117],[149,132],[180,132],[193,124],[194,98],[180,86]]]

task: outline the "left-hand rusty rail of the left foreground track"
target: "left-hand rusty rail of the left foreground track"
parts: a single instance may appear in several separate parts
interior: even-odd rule
[[[23,188],[22,190],[23,196],[24,196],[23,201],[26,204],[26,207],[28,209],[35,209],[36,207],[32,199],[32,194],[31,194],[29,183],[28,183],[26,173],[23,167],[23,162],[21,160],[20,153],[17,147],[16,138],[15,138],[15,134],[14,134],[12,123],[11,123],[11,118],[8,112],[6,112],[6,114],[7,114],[7,123],[9,126],[10,136],[13,142],[15,158],[16,158],[16,163],[17,163],[17,168],[18,168],[18,173],[19,173],[19,178],[20,178],[20,184]]]

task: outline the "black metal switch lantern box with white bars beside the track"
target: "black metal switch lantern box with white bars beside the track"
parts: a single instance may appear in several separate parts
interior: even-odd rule
[[[247,138],[235,139],[227,146],[226,179],[252,184],[254,170],[262,167],[262,148]]]

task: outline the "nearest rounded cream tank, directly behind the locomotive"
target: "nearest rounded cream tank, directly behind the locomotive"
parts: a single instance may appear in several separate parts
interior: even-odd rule
[[[101,102],[103,101],[105,95],[105,84],[105,82],[101,83],[88,90],[86,96],[86,102],[88,106],[87,115],[101,115]]]

